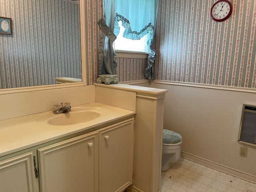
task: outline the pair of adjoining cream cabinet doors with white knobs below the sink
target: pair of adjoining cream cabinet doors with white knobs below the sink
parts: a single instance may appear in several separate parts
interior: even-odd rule
[[[132,184],[133,118],[38,149],[41,192],[121,192]]]

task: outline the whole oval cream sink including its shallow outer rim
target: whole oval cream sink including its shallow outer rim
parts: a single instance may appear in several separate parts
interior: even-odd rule
[[[45,121],[50,125],[56,126],[74,125],[94,120],[99,118],[102,114],[106,114],[106,111],[100,108],[77,107],[71,108],[70,112],[62,114],[47,112],[36,118],[36,122]]]

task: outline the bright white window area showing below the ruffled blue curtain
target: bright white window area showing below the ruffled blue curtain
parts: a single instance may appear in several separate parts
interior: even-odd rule
[[[113,44],[114,49],[117,52],[125,51],[125,52],[140,52],[140,53],[148,54],[149,52],[149,48],[147,45],[148,34],[144,35],[139,40],[131,40],[123,37],[124,26],[122,26],[121,20],[118,22],[118,26],[120,27],[120,32]]]

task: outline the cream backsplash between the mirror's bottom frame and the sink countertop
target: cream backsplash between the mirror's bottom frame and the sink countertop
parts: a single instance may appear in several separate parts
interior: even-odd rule
[[[95,87],[77,86],[0,94],[0,120],[53,110],[54,104],[62,102],[70,102],[71,106],[95,102]]]

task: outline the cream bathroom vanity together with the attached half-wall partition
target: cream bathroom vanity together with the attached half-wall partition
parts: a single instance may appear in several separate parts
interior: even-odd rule
[[[166,90],[95,84],[94,91],[94,102],[66,114],[100,113],[86,122],[58,125],[52,111],[0,121],[1,190],[160,191]]]

